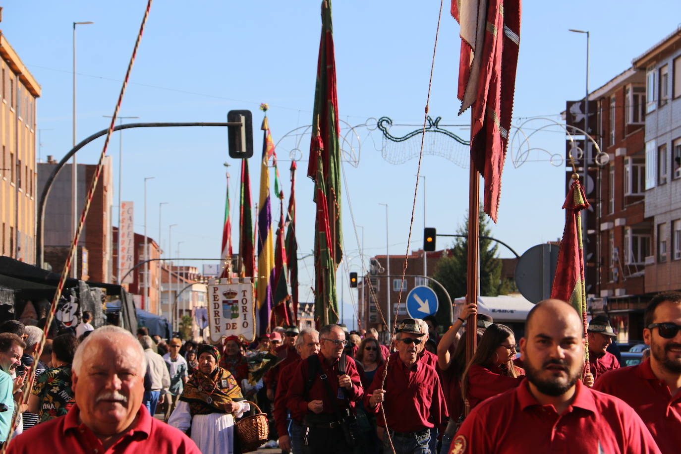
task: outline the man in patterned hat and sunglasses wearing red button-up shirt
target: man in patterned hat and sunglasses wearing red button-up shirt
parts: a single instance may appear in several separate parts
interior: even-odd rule
[[[427,329],[426,329],[427,331]],[[447,419],[445,397],[440,379],[432,366],[419,358],[424,333],[414,319],[398,325],[395,346],[397,355],[387,363],[385,385],[381,388],[381,366],[367,389],[366,408],[377,412],[377,422],[390,431],[396,454],[430,454],[430,430]],[[385,410],[385,420],[379,412]],[[384,451],[391,452],[383,432]]]

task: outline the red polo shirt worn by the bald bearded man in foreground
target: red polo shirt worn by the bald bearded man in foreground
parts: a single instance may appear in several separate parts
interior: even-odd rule
[[[523,380],[479,404],[454,436],[450,453],[660,453],[630,406],[577,380],[572,404],[558,415]]]

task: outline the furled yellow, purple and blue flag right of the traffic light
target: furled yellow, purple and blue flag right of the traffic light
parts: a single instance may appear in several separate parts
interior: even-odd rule
[[[257,216],[257,332],[263,334],[270,323],[272,285],[274,285],[274,238],[272,237],[272,205],[270,204],[270,168],[274,141],[267,116],[262,120],[263,143],[260,161],[260,201]]]

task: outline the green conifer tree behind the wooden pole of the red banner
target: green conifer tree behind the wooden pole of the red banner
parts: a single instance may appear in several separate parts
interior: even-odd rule
[[[480,236],[491,236],[490,221],[483,210],[479,211]],[[468,267],[468,214],[464,222],[456,230],[458,235],[451,248],[446,250],[446,255],[437,262],[437,267],[433,278],[438,280],[454,298],[466,295],[466,277]],[[501,280],[501,259],[498,258],[498,243],[486,238],[480,238],[480,293],[483,296],[497,296],[513,291],[515,285],[509,280]],[[448,310],[446,304],[447,297],[443,294],[439,286],[432,285],[440,304],[437,318],[443,325],[449,325]]]

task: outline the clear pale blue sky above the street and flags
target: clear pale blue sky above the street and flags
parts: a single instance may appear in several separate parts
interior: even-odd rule
[[[279,171],[288,195],[287,160],[296,140],[287,133],[311,123],[321,27],[319,3],[156,1],[120,114],[148,122],[222,121],[228,110],[250,109],[258,155],[262,149],[258,105],[269,103],[274,142],[281,140]],[[3,6],[2,33],[42,86],[37,103],[37,128],[42,129],[39,154],[43,160],[47,155],[61,159],[72,142],[72,22],[95,22],[78,26],[78,140],[82,140],[108,126],[102,116],[114,110],[146,1],[14,1]],[[381,116],[399,124],[423,122],[438,9],[436,1],[334,1],[341,119],[353,126]],[[524,1],[514,123],[533,116],[560,120],[565,101],[584,95],[586,37],[567,29],[591,33],[593,90],[674,31],[676,11],[676,1],[654,1],[644,7],[634,2]],[[430,114],[442,116],[441,123],[447,125],[469,123],[467,114],[456,116],[459,46],[458,24],[445,2]],[[531,123],[529,127],[545,124]],[[413,129],[417,126],[395,127],[393,131],[402,135]],[[466,129],[450,129],[468,138]],[[370,256],[385,253],[385,208],[379,203],[387,203],[390,253],[405,253],[417,161],[388,163],[381,157],[379,131],[355,130],[362,141],[361,152],[355,141],[359,162],[356,166],[344,163],[349,197],[344,190],[342,203],[348,266],[361,272],[350,208],[355,223],[364,227],[364,254]],[[232,206],[237,206],[238,163],[227,157],[226,142],[226,133],[219,128],[125,131],[123,199],[136,202],[136,231],[144,229],[143,180],[153,176],[148,182],[149,235],[157,238],[159,233],[159,203],[170,202],[163,206],[163,248],[168,250],[168,225],[176,223],[173,250],[182,242],[183,257],[217,257],[224,210],[224,162],[232,163],[230,191]],[[532,146],[563,154],[563,142],[560,133],[546,133],[533,137]],[[103,144],[100,139],[84,148],[78,161],[95,163]],[[308,136],[302,137],[304,159],[308,146]],[[117,182],[117,136],[112,138],[109,152]],[[509,152],[517,154],[512,147]],[[251,159],[250,165],[252,195],[257,199],[258,159]],[[518,253],[560,238],[564,172],[562,165],[551,165],[545,152],[530,155],[518,168],[507,157],[499,221],[492,227],[492,236],[511,244]],[[313,248],[313,185],[305,173],[306,163],[301,162],[296,187],[300,255]],[[422,175],[426,176],[426,224],[441,233],[453,233],[467,208],[468,170],[442,157],[425,156]],[[118,188],[115,191],[117,201]],[[279,207],[274,206],[273,212],[278,218]],[[409,250],[422,243],[422,213],[419,192]],[[238,223],[236,212],[233,222]],[[439,240],[439,246],[446,244]],[[500,253],[501,257],[510,255],[505,250]],[[340,270],[345,319],[351,323],[347,275],[343,265]],[[311,259],[300,263],[300,278],[301,300],[310,301]]]

